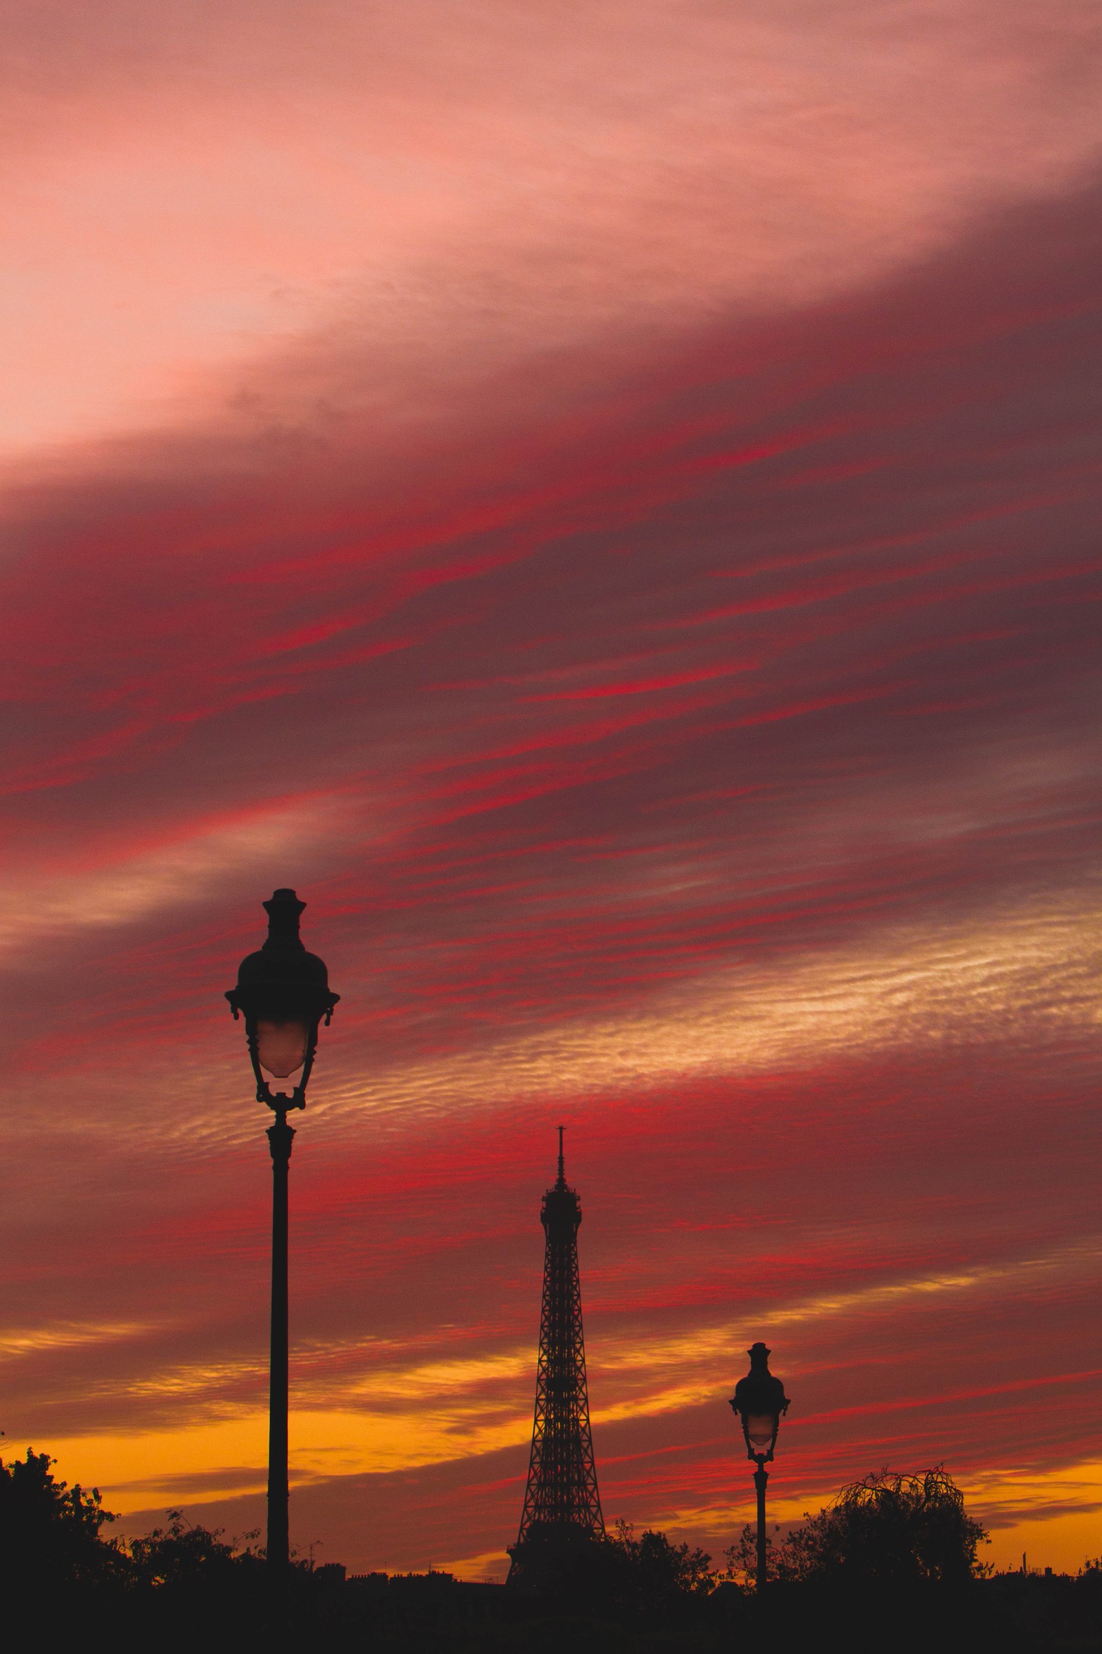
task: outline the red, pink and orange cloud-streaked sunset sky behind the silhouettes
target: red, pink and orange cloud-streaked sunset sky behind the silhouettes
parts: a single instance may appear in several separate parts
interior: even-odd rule
[[[263,1523],[261,900],[340,992],[291,1533],[1102,1553],[1095,0],[0,0],[0,1427]]]

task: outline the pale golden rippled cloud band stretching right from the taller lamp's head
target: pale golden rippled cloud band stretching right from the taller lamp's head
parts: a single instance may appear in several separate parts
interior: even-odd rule
[[[451,1110],[487,1100],[577,1098],[687,1075],[800,1072],[838,1055],[924,1044],[1011,1040],[1099,1022],[1092,982],[1102,911],[1076,903],[991,915],[935,935],[871,936],[760,969],[740,963],[641,996],[615,1017],[572,1021],[520,1040],[395,1067],[330,1087],[325,1111]]]

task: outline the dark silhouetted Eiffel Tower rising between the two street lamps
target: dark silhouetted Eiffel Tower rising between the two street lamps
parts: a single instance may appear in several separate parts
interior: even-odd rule
[[[520,1533],[509,1551],[511,1576],[524,1571],[522,1558],[532,1555],[534,1545],[542,1550],[547,1543],[562,1546],[605,1538],[585,1383],[578,1280],[582,1202],[575,1189],[567,1188],[562,1133],[558,1126],[558,1178],[540,1209],[547,1242],[535,1419]]]

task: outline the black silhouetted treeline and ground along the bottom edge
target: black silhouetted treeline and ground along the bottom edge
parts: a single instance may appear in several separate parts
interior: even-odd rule
[[[325,1647],[456,1654],[719,1654],[739,1644],[854,1651],[1102,1654],[1102,1570],[991,1575],[986,1535],[943,1470],[879,1472],[772,1535],[752,1588],[753,1533],[722,1566],[620,1522],[560,1588],[524,1594],[446,1573],[345,1578],[296,1561],[276,1593],[254,1535],[226,1540],[169,1512],[144,1538],[111,1537],[96,1490],[66,1487],[46,1454],[0,1460],[0,1585],[13,1647]]]

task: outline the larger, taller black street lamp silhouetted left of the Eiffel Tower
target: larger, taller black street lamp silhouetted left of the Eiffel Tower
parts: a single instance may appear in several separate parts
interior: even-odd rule
[[[241,959],[238,986],[226,994],[245,1034],[256,1077],[256,1102],[274,1110],[271,1146],[271,1365],[268,1396],[268,1565],[283,1576],[291,1561],[287,1533],[287,1168],[294,1130],[292,1108],[306,1108],[306,1085],[314,1067],[317,1029],[329,1024],[339,994],[316,953],[299,941],[299,901],[294,890],[276,890],[264,903],[268,941]],[[299,1072],[301,1070],[301,1072]],[[291,1093],[268,1083],[299,1075]]]

